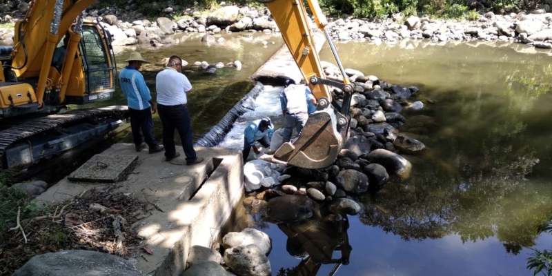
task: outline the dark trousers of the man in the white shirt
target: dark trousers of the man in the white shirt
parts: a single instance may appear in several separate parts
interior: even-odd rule
[[[186,162],[193,163],[197,155],[195,154],[192,139],[192,124],[190,121],[190,112],[185,105],[164,106],[157,104],[159,118],[163,124],[163,145],[165,146],[165,157],[175,157],[177,151],[175,148],[175,129],[180,135],[182,148],[186,155]]]

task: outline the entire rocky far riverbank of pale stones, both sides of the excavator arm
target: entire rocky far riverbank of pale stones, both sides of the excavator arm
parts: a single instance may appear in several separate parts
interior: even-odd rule
[[[21,10],[23,11],[23,10]],[[164,10],[172,14],[170,7]],[[115,15],[118,14],[118,15]],[[186,9],[181,17],[147,19],[133,10],[88,8],[83,15],[90,21],[100,20],[112,34],[114,46],[162,46],[172,43],[170,34],[197,32],[206,43],[223,42],[221,34],[230,32],[279,32],[267,8],[223,6],[211,12]],[[19,12],[21,16],[21,12]],[[174,18],[171,19],[171,18]],[[4,22],[14,21],[10,16]],[[552,48],[552,13],[546,7],[531,12],[511,14],[475,14],[472,21],[404,17],[401,13],[388,19],[332,19],[326,30],[335,41],[370,41],[396,43],[403,39],[431,41],[513,41],[537,48]],[[11,43],[13,30],[0,28],[0,39]]]

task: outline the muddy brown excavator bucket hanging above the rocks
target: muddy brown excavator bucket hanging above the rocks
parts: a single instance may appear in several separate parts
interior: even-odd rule
[[[327,107],[321,108],[321,105]],[[327,101],[319,101],[317,111],[308,117],[295,143],[284,143],[274,158],[300,168],[330,166],[346,141],[347,121]]]

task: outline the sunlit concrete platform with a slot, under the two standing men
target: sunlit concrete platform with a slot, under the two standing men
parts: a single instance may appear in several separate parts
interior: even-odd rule
[[[117,182],[115,191],[150,202],[144,219],[131,227],[144,237],[153,251],[137,259],[137,268],[154,275],[181,275],[189,248],[210,247],[219,239],[221,228],[244,194],[242,155],[226,148],[195,148],[205,161],[194,166],[184,164],[184,154],[170,162],[162,152],[135,152],[133,144],[115,144],[103,155],[137,156],[137,166],[128,177]],[[181,147],[177,147],[183,152]],[[49,188],[39,201],[63,201],[105,183],[72,182],[67,178]]]

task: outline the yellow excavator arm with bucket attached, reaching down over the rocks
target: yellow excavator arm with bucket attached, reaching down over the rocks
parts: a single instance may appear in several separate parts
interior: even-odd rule
[[[333,164],[347,141],[350,121],[348,110],[351,107],[351,95],[355,91],[355,85],[347,79],[337,50],[326,30],[328,21],[317,0],[308,0],[308,6],[315,17],[316,26],[324,32],[342,73],[342,80],[326,79],[324,76],[303,1],[257,1],[266,3],[295,63],[301,70],[304,81],[318,102],[316,112],[308,117],[297,140],[293,144],[284,143],[276,150],[274,158],[301,168],[326,168]],[[328,86],[341,89],[344,92],[343,101],[333,100]]]

